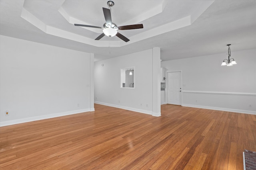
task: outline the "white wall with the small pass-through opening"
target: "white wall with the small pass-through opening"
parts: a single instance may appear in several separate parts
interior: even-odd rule
[[[154,55],[153,52],[156,53],[156,55]],[[153,63],[153,56],[156,60],[155,63]],[[104,66],[102,66],[102,64],[104,64]],[[159,68],[159,73],[157,72],[155,76],[153,76],[153,65],[155,69],[156,67]],[[135,67],[135,89],[120,88],[120,68],[132,66]],[[112,59],[97,61],[94,64],[95,103],[159,116],[160,88],[158,90],[158,87],[153,84],[153,78],[157,79],[158,76],[160,82],[160,49],[158,47]],[[157,98],[159,91],[159,102],[152,102],[153,88],[156,90],[155,98]],[[153,106],[154,104],[159,106],[155,107]],[[153,108],[155,109],[153,110]]]

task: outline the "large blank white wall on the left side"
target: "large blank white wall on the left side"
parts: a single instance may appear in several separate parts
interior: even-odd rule
[[[93,59],[1,35],[0,126],[94,110]]]

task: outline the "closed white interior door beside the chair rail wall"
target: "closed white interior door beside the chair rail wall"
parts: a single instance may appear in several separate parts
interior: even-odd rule
[[[167,104],[181,105],[181,72],[167,72]]]

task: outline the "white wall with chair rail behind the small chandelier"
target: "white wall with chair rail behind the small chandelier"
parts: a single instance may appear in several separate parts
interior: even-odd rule
[[[229,67],[220,66],[226,53],[163,61],[161,66],[182,70],[182,106],[256,114],[255,56],[256,49],[232,51],[237,64]]]

